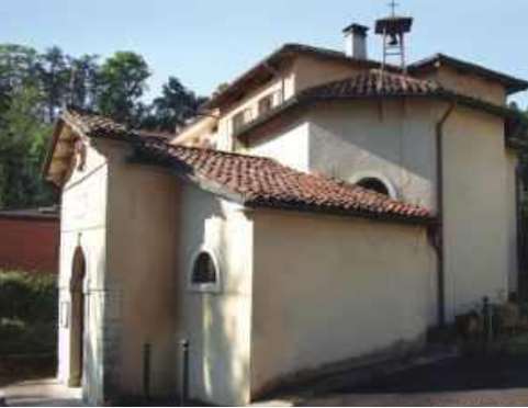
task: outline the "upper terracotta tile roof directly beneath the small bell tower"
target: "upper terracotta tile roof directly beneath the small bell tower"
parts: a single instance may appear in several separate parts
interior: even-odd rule
[[[447,91],[437,82],[370,70],[352,78],[307,89],[301,99],[436,95]]]

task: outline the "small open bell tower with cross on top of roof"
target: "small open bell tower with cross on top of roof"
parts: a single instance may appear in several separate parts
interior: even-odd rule
[[[392,0],[389,5],[392,10],[391,15],[375,22],[375,33],[383,36],[383,70],[390,59],[396,59],[406,73],[405,36],[411,33],[414,20],[397,15],[398,4],[395,0]]]

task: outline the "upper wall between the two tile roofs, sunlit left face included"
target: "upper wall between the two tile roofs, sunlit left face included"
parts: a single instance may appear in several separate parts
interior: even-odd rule
[[[250,155],[347,182],[382,181],[391,195],[436,207],[436,123],[441,104],[316,104],[249,137]]]

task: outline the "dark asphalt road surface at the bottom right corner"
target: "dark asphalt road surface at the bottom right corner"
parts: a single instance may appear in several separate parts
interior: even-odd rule
[[[527,407],[528,359],[446,361],[301,406]]]

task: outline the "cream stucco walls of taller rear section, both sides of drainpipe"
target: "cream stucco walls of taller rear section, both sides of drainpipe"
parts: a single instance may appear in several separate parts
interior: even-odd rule
[[[447,109],[427,100],[316,104],[295,121],[282,120],[283,133],[278,123],[260,129],[250,152],[303,170],[297,163],[306,160],[307,124],[310,172],[352,182],[379,177],[400,200],[435,211],[436,125]],[[498,116],[459,106],[443,133],[446,303],[452,320],[483,296],[501,302],[517,287],[515,155],[507,152]],[[436,293],[437,280],[430,286]]]

